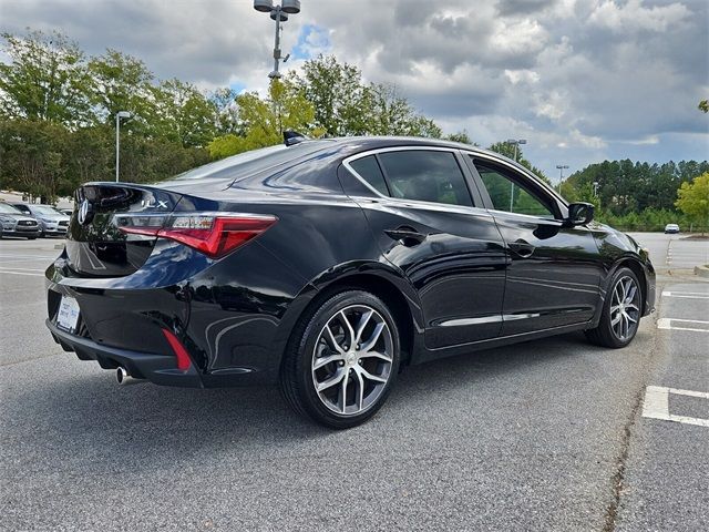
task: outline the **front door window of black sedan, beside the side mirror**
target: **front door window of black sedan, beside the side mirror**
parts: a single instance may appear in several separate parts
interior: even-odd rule
[[[487,166],[480,161],[475,161],[475,168],[495,211],[555,218],[554,208],[548,198],[541,196],[532,187],[522,185],[506,172]]]

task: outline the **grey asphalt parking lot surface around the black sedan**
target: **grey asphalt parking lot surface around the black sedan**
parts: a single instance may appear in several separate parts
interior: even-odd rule
[[[634,236],[659,276],[631,346],[574,334],[408,368],[343,432],[276,389],[117,387],[44,328],[61,241],[3,239],[0,529],[702,530],[709,427],[687,419],[709,398],[662,390],[709,392],[709,284],[689,269],[709,243]]]

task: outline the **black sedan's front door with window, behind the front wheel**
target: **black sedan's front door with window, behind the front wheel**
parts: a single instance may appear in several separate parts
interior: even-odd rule
[[[502,336],[590,320],[603,273],[590,231],[565,224],[565,206],[513,165],[469,157],[510,257]]]

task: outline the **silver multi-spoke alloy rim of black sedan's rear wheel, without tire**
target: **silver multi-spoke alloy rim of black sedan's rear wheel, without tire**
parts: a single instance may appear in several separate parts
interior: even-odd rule
[[[340,416],[371,408],[391,376],[393,341],[384,318],[367,305],[339,310],[320,330],[311,362],[318,398]]]

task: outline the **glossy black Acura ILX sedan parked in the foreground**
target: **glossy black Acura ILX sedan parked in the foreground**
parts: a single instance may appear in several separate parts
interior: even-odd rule
[[[333,428],[374,415],[404,366],[574,330],[621,348],[654,309],[631,237],[464,144],[305,141],[89,183],[75,205],[47,270],[65,350],[119,381],[279,383]]]

